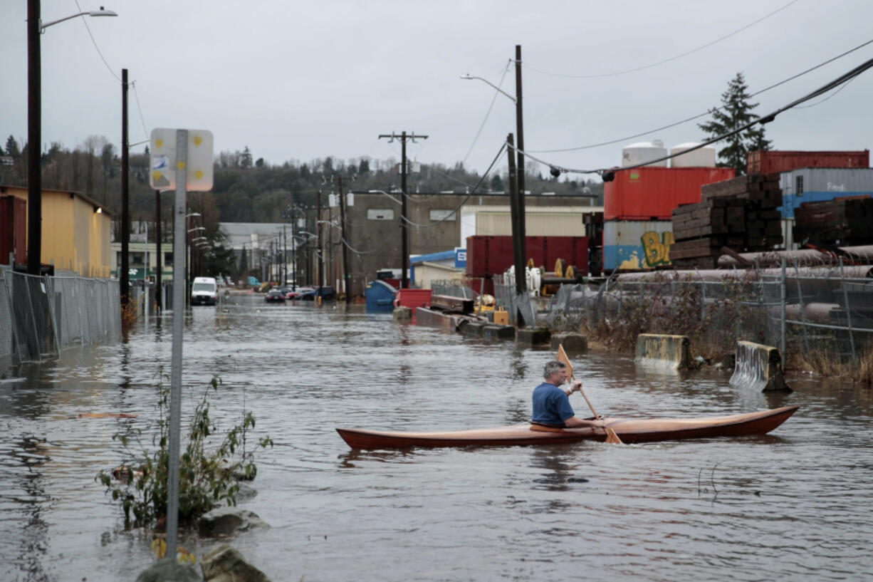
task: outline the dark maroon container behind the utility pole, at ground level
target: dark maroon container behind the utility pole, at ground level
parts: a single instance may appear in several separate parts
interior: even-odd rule
[[[551,271],[559,259],[588,274],[588,237],[525,237],[526,258]],[[466,274],[490,277],[512,266],[512,237],[473,236],[467,239]],[[478,289],[474,289],[478,291]]]

